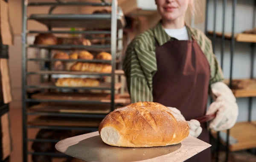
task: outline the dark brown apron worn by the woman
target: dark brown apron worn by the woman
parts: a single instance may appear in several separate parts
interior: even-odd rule
[[[157,41],[156,41],[157,42]],[[197,41],[173,40],[156,43],[157,72],[153,77],[153,98],[168,107],[176,107],[187,121],[204,116],[207,107],[210,67]],[[209,143],[207,124],[198,139]],[[186,162],[210,162],[210,149]]]

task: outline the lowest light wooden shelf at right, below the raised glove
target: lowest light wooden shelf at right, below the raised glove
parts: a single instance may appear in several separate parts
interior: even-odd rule
[[[226,132],[226,130],[224,131]],[[217,138],[217,132],[211,131],[212,136]],[[248,122],[239,122],[230,129],[230,136],[238,140],[238,143],[229,146],[230,151],[256,148],[256,127]],[[223,145],[226,142],[220,141]]]

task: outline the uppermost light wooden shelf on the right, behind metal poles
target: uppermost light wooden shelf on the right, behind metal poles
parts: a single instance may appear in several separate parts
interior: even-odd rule
[[[208,32],[209,35],[213,35],[213,31]],[[222,32],[216,32],[217,37],[222,37]],[[250,42],[256,43],[256,34],[237,33],[234,35],[237,42]],[[226,39],[231,39],[231,33],[225,33]]]

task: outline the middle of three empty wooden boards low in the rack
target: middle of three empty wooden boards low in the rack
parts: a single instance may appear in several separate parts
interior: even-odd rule
[[[34,112],[45,113],[93,113],[102,114],[110,113],[110,105],[105,104],[57,104],[57,103],[42,103],[29,108]]]

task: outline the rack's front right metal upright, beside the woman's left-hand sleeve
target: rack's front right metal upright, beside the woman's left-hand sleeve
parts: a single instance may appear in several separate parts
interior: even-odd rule
[[[111,110],[115,108],[115,69],[116,69],[116,32],[117,32],[117,0],[112,0],[111,5]]]

